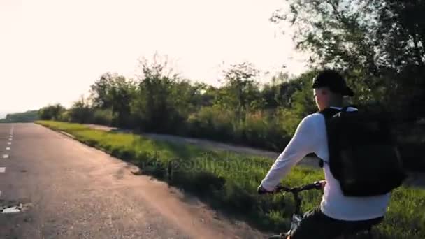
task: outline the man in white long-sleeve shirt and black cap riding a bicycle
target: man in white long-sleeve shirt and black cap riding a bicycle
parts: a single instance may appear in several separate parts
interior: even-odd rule
[[[344,78],[333,70],[320,72],[313,80],[312,88],[319,111],[329,107],[341,109],[343,96],[354,96]],[[357,109],[350,107],[347,110]],[[291,167],[309,153],[315,153],[324,161],[324,195],[320,206],[305,213],[298,229],[292,231],[289,238],[331,239],[382,221],[389,204],[389,194],[368,197],[343,195],[327,164],[329,150],[325,119],[318,112],[301,120],[293,138],[261,181],[259,191],[273,191]]]

